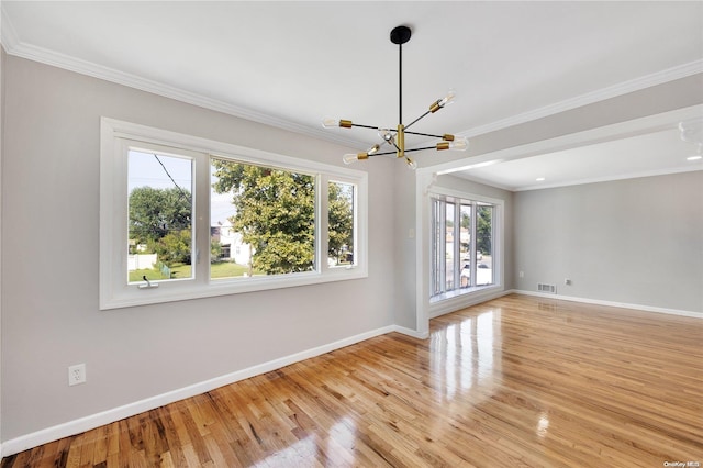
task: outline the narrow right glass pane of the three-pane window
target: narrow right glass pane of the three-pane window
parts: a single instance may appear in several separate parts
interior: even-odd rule
[[[327,264],[354,265],[354,192],[352,183],[327,186]]]

